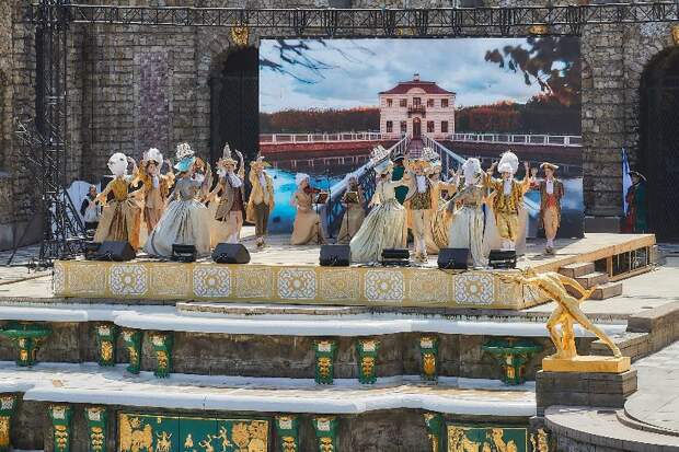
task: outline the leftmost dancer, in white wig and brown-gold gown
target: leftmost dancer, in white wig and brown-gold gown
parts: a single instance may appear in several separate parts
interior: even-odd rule
[[[127,174],[128,163],[134,166],[131,175]],[[116,152],[108,159],[108,169],[114,178],[96,197],[96,201],[104,207],[94,233],[94,242],[124,241],[129,242],[133,248],[139,250],[143,192],[134,188],[133,183],[138,173],[137,165],[131,158]]]

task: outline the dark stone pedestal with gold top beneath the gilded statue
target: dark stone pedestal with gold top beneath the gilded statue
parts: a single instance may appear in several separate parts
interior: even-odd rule
[[[545,361],[543,361],[543,367]],[[543,368],[536,375],[538,416],[543,416],[544,409],[553,405],[622,408],[626,398],[636,392],[636,370],[614,372],[607,371],[607,367],[614,369],[614,366],[620,366],[620,363],[601,364],[599,362],[599,367],[595,367],[594,362],[588,363],[587,360],[578,360],[579,364],[574,364],[573,360],[568,361],[571,366],[582,366],[584,369],[590,366],[590,369],[599,369],[599,371],[577,371],[573,367],[567,368],[567,371],[546,371]],[[548,367],[557,368],[561,364],[553,362]]]

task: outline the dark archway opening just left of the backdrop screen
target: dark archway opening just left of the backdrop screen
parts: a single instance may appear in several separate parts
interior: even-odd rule
[[[230,53],[210,78],[210,160],[226,142],[252,160],[260,148],[260,66],[256,47]]]

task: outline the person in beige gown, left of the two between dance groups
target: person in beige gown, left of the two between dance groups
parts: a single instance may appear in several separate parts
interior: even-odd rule
[[[309,183],[309,175],[297,173],[295,176],[297,192],[292,194],[290,204],[297,208],[295,223],[292,224],[291,245],[319,245],[322,244],[321,217],[313,209],[315,195],[321,190],[313,188]]]

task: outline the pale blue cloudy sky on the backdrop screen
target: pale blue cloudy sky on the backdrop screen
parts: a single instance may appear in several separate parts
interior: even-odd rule
[[[296,42],[292,39],[291,42]],[[280,60],[274,40],[263,39],[262,58],[283,62],[289,73],[260,69],[260,109],[348,108],[377,105],[378,93],[413,78],[435,81],[457,93],[458,106],[510,100],[519,103],[540,93],[523,74],[484,60],[486,50],[525,44],[525,38],[331,39],[308,42],[303,55],[327,65],[311,71]],[[525,45],[526,47],[526,45]],[[311,82],[311,83],[309,83]]]

